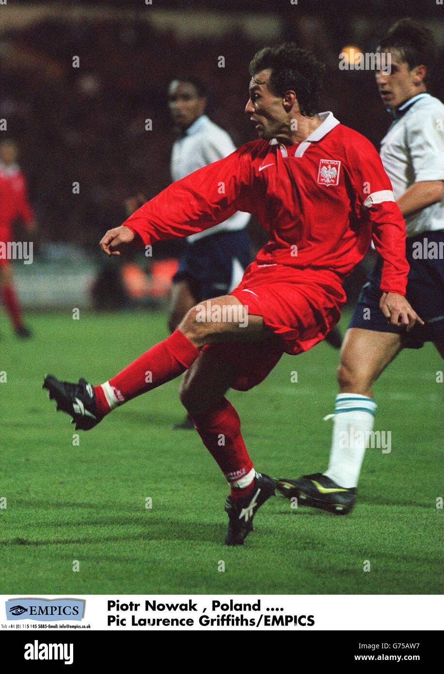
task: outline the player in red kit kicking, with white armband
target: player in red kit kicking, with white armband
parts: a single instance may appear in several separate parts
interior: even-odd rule
[[[245,113],[259,140],[172,183],[100,246],[185,237],[238,210],[255,214],[269,240],[229,295],[191,309],[179,328],[101,386],[46,375],[44,388],[76,428],[182,373],[181,400],[231,487],[227,545],[242,545],[274,481],[255,472],[228,388],[259,384],[282,353],[315,346],[340,318],[342,280],[373,238],[384,260],[381,290],[393,324],[418,319],[404,297],[404,220],[375,148],[331,113],[319,113],[323,65],[293,43],[250,64]]]

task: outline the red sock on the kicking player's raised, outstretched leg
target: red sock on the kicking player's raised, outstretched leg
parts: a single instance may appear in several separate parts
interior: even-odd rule
[[[200,351],[183,332],[175,330],[101,386],[94,386],[98,411],[107,414],[118,404],[179,377]]]

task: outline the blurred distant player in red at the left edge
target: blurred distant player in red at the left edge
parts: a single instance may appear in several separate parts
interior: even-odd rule
[[[13,240],[15,220],[22,220],[28,231],[34,232],[36,221],[28,200],[26,179],[17,163],[18,148],[13,140],[0,143],[0,244]],[[2,248],[5,248],[2,246]],[[31,336],[23,324],[20,301],[13,284],[13,268],[7,254],[0,253],[0,293],[15,334],[21,338]]]

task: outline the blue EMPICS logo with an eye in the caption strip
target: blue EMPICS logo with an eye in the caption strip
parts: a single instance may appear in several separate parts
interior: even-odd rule
[[[8,620],[57,620],[81,621],[85,612],[84,599],[8,599],[6,617]]]

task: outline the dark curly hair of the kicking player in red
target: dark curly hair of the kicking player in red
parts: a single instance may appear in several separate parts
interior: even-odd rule
[[[268,86],[276,96],[292,90],[302,115],[313,117],[319,113],[325,65],[311,51],[300,49],[294,42],[264,47],[251,61],[250,75],[254,77],[267,68],[272,70]]]

